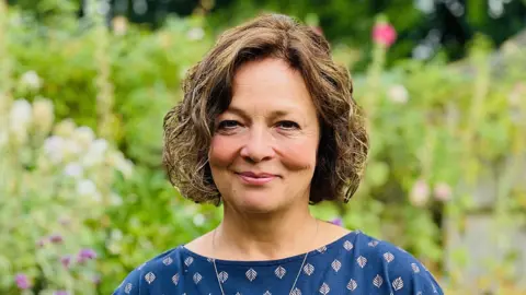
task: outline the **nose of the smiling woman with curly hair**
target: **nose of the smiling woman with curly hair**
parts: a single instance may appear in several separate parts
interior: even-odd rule
[[[251,163],[259,163],[271,160],[275,155],[272,146],[272,134],[266,128],[252,127],[250,135],[247,137],[243,148],[241,148],[241,156]]]

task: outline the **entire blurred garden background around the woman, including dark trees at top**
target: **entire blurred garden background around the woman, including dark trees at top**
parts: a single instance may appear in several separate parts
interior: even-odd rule
[[[0,0],[0,294],[111,294],[217,225],[167,180],[162,119],[262,12],[323,34],[368,116],[356,196],[312,212],[446,294],[526,294],[525,0]]]

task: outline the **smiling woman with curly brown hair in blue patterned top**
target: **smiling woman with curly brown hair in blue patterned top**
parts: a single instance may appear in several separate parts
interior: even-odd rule
[[[368,151],[347,71],[284,15],[226,32],[164,120],[163,162],[220,225],[134,270],[114,294],[443,294],[408,252],[316,220],[347,202]]]

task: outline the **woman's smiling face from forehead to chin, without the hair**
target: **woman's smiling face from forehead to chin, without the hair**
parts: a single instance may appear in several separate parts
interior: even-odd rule
[[[208,152],[225,203],[265,213],[308,201],[319,139],[316,108],[299,72],[279,59],[241,66]]]

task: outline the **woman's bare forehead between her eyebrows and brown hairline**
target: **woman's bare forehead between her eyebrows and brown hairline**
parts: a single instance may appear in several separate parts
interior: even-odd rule
[[[316,115],[301,73],[281,59],[250,61],[233,78],[230,107],[263,110],[299,110]]]

